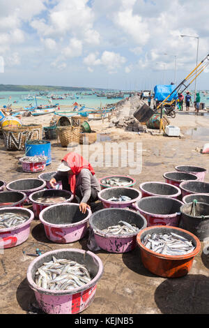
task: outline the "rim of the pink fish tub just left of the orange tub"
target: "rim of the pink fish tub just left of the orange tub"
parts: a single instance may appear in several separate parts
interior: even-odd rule
[[[130,234],[109,234],[109,233],[105,233],[105,232],[102,232],[102,230],[98,230],[98,228],[96,228],[95,225],[92,223],[92,220],[93,220],[93,217],[95,216],[95,214],[98,214],[101,211],[114,211],[114,210],[119,210],[119,211],[132,211],[132,212],[134,212],[134,214],[137,214],[138,216],[141,216],[141,218],[144,221],[144,225],[142,226],[141,229],[139,229],[139,231],[141,231],[142,229],[144,229],[144,227],[146,228],[147,221],[146,221],[146,218],[142,214],[140,214],[140,213],[138,213],[136,211],[133,211],[131,209],[120,209],[120,208],[117,208],[117,207],[116,208],[111,207],[109,209],[100,209],[100,211],[96,211],[89,218],[89,226],[91,227],[91,229],[93,229],[94,234],[97,234],[98,236],[104,237],[104,238],[116,238],[116,239],[118,239],[118,238],[120,238],[120,239],[127,239],[127,238],[131,238],[131,237],[137,236],[137,234],[139,232],[132,232]]]

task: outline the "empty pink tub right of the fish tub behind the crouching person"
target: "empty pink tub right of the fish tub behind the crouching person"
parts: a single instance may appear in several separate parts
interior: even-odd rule
[[[181,194],[180,188],[164,182],[144,182],[140,184],[139,188],[142,197],[167,196],[178,198]]]

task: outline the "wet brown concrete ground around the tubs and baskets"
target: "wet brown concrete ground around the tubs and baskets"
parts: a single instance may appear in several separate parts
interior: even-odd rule
[[[99,126],[99,123],[95,126]],[[142,142],[142,172],[132,175],[137,179],[135,188],[139,188],[139,184],[144,181],[164,181],[162,174],[173,171],[176,165],[206,168],[209,166],[209,154],[195,151],[196,147],[202,148],[204,142],[192,140],[189,135],[180,139],[149,134],[137,135],[116,128],[105,131],[111,131],[111,140],[114,142]],[[103,147],[104,142],[101,142],[100,155],[103,154]],[[3,181],[8,183],[15,179],[38,177],[38,174],[22,172],[17,158],[22,157],[24,153],[6,151],[3,140],[0,140],[0,154],[0,179]],[[56,170],[65,154],[67,149],[59,147],[59,144],[53,141],[52,165],[47,166],[45,172]],[[95,167],[95,172],[96,177],[100,178],[108,174],[129,174],[129,169]],[[209,181],[208,173],[206,181]],[[35,301],[33,291],[26,281],[26,271],[33,258],[24,255],[23,251],[33,253],[36,248],[50,251],[66,246],[87,250],[86,244],[87,238],[74,244],[53,244],[45,237],[40,221],[33,221],[29,239],[20,246],[6,249],[4,254],[0,255],[0,313],[27,313]],[[201,245],[201,252],[194,259],[189,274],[183,278],[170,279],[155,276],[145,269],[138,247],[124,254],[95,252],[104,264],[104,274],[98,283],[93,303],[83,314],[209,313],[209,255],[203,253],[203,248],[209,247],[209,241],[208,244],[202,242]]]

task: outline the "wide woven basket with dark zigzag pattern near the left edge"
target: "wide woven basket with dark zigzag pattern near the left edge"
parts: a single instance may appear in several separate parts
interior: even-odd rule
[[[27,140],[41,140],[42,126],[20,126],[15,128],[2,128],[3,141],[7,150],[24,150]]]

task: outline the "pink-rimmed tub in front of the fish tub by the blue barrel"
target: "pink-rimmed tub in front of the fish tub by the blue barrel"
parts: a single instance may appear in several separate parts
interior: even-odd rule
[[[35,191],[40,191],[45,188],[46,182],[40,179],[20,179],[11,181],[6,185],[8,191],[21,191],[26,193],[24,204],[30,204],[29,195]]]

